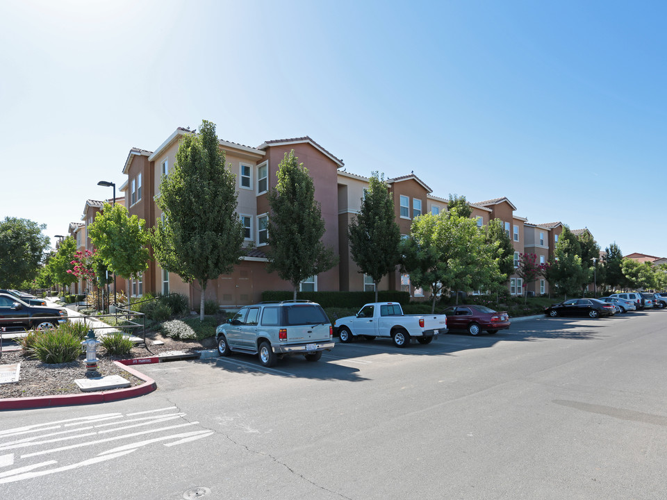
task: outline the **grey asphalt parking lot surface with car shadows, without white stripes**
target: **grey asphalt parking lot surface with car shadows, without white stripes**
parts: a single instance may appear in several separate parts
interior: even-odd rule
[[[198,440],[114,458],[124,481],[96,475],[98,498],[146,498],[148,482],[151,498],[174,499],[198,486],[229,499],[660,499],[665,319],[543,318],[406,349],[337,344],[318,363],[273,368],[240,354],[146,365],[154,393],[31,418],[181,412]],[[87,472],[63,474],[83,483]]]

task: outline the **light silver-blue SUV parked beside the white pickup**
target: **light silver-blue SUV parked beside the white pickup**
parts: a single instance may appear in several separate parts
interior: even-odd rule
[[[320,304],[297,301],[260,302],[241,308],[215,329],[220,356],[232,352],[258,354],[272,367],[283,356],[300,354],[318,361],[334,349],[334,330]]]

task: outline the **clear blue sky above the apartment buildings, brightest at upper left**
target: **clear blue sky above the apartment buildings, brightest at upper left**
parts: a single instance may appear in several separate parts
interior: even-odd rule
[[[665,19],[664,1],[2,2],[0,218],[66,234],[131,147],[209,119],[667,256]]]

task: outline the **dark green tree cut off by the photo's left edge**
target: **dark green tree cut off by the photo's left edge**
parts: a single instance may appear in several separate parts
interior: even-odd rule
[[[49,238],[46,224],[5,217],[0,222],[0,288],[17,288],[40,272]]]

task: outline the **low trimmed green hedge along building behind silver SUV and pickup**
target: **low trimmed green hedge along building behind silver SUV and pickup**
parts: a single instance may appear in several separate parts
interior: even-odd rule
[[[294,292],[286,290],[267,290],[262,292],[263,301],[292,300]],[[317,302],[323,308],[356,308],[375,301],[375,292],[297,292],[297,299]],[[410,302],[409,292],[381,290],[377,294],[380,302],[398,302],[405,305]]]

